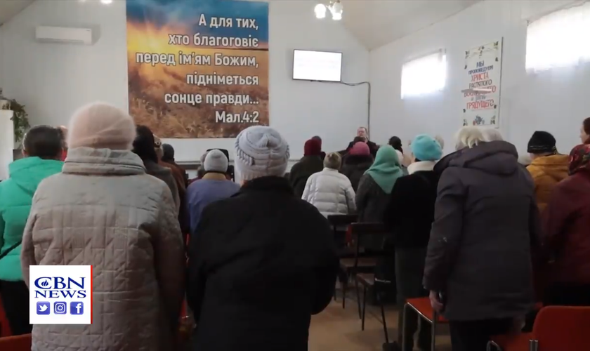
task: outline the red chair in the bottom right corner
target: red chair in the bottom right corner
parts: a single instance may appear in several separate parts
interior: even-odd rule
[[[494,336],[487,350],[582,351],[589,350],[590,307],[543,307],[531,333]]]

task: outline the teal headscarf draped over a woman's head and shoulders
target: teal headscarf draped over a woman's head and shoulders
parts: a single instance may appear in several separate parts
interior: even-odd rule
[[[386,194],[390,194],[395,181],[404,175],[398,153],[391,145],[379,147],[375,161],[365,174],[371,176]]]

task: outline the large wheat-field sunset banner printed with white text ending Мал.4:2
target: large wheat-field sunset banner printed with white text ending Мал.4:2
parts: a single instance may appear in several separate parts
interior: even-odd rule
[[[127,1],[129,113],[160,138],[268,125],[268,3]]]

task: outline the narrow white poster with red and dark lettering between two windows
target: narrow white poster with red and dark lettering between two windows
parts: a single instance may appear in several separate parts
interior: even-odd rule
[[[465,51],[464,126],[499,127],[502,41]]]

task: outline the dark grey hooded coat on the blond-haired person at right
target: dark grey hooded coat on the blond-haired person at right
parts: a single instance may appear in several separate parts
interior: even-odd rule
[[[446,292],[447,319],[517,317],[532,308],[539,211],[517,157],[514,145],[492,141],[461,150],[442,171],[424,286]]]

